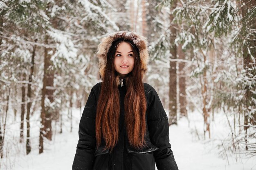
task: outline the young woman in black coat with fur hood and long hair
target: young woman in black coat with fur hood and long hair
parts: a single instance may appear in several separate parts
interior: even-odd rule
[[[98,47],[103,82],[93,86],[79,124],[73,170],[178,170],[167,115],[155,89],[143,83],[146,39],[119,31]]]

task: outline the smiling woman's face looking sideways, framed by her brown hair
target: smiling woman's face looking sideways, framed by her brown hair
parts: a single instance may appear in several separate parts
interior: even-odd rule
[[[134,53],[128,42],[121,42],[115,53],[114,65],[115,70],[121,78],[125,78],[134,66]]]

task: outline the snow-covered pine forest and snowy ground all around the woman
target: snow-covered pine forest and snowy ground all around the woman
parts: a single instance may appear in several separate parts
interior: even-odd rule
[[[256,170],[256,0],[0,0],[0,170],[70,170],[97,46],[148,40],[180,170]]]

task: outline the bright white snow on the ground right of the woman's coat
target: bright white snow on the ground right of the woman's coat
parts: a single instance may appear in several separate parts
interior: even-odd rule
[[[179,170],[256,170],[256,158],[243,164],[236,163],[230,157],[228,165],[226,160],[218,157],[213,142],[204,144],[195,138],[186,119],[181,119],[178,126],[170,128],[170,143]]]

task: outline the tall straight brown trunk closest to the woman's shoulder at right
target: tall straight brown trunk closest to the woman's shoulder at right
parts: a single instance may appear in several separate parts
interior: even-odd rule
[[[177,0],[173,1],[171,5],[171,12],[176,8]],[[176,24],[173,24],[174,16],[173,14],[170,15],[171,19],[171,59],[177,58],[177,47],[175,45],[175,38],[176,38]],[[176,62],[170,61],[170,79],[169,79],[169,125],[177,124],[177,75],[176,75]]]

